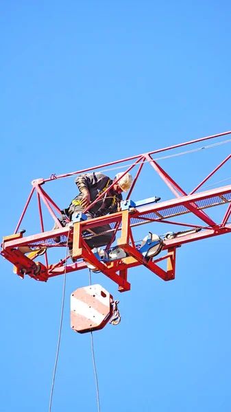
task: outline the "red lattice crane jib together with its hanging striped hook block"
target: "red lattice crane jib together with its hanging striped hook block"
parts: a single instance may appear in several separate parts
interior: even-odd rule
[[[156,156],[162,152],[198,144],[202,141],[230,135],[230,133],[231,131],[228,131],[193,141],[186,141],[68,174],[58,176],[52,174],[48,179],[35,179],[32,181],[32,190],[14,233],[3,238],[1,255],[14,265],[16,275],[21,278],[28,275],[40,282],[47,282],[51,277],[80,271],[88,267],[93,271],[104,273],[112,282],[118,285],[119,292],[123,293],[130,290],[128,270],[141,265],[165,282],[173,280],[175,278],[175,262],[179,247],[189,242],[231,232],[231,224],[228,222],[231,214],[231,185],[202,191],[204,183],[221,170],[230,160],[231,154],[228,154],[189,193],[186,193],[173,177],[160,167]],[[221,143],[224,144],[230,141]],[[207,147],[211,146],[215,145]],[[171,199],[162,201],[162,199],[152,196],[136,201],[133,198],[134,187],[142,179],[143,168],[146,165],[149,166],[150,172],[155,172],[169,187],[173,194]],[[91,220],[87,220],[84,213],[80,213],[71,222],[67,221],[65,227],[62,227],[59,219],[62,216],[62,210],[45,191],[44,185],[68,176],[102,170],[111,166],[123,168],[123,174],[134,172],[134,181],[127,198],[121,203],[121,211]],[[110,186],[106,189],[106,192],[108,190],[110,190]],[[38,201],[40,233],[25,236],[25,229],[21,229],[21,225],[34,194],[36,194]],[[58,229],[45,231],[41,201],[47,207]],[[95,202],[93,201],[84,212],[88,211],[89,207],[92,207]],[[207,209],[215,206],[221,207],[221,205],[225,207],[225,210],[221,221],[218,222],[209,216]],[[189,216],[189,220],[192,216],[196,216],[198,223],[195,225],[191,220],[185,222],[185,216]],[[137,242],[134,238],[134,229],[141,227],[141,225],[145,227],[150,223],[171,224],[177,226],[178,229],[167,231],[163,236],[148,231],[146,236]],[[91,250],[86,243],[86,239],[97,236],[94,228],[102,225],[110,225],[110,231],[113,233],[112,242],[106,249]],[[113,246],[113,242],[117,242],[117,244]],[[49,262],[49,251],[51,249],[67,247],[70,243],[73,247],[72,258],[74,262],[69,259],[69,256],[61,260],[59,258],[58,262]],[[29,248],[32,252],[26,255],[23,253],[23,247]],[[37,258],[42,260],[42,257],[40,257],[42,253],[44,253],[44,261],[36,261]],[[162,254],[160,255],[160,253]],[[166,262],[165,269],[160,266],[160,262]],[[101,329],[112,317],[114,323],[116,323],[118,318],[117,301],[114,301],[112,295],[101,285],[86,286],[86,288],[77,289],[71,294],[71,328],[75,331],[83,333],[89,330]]]

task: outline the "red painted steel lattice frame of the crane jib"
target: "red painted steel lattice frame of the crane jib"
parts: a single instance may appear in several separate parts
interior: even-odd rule
[[[25,208],[23,209],[23,214],[21,215],[19,223],[16,226],[16,231],[14,235],[6,236],[5,238],[3,238],[3,244],[2,244],[3,249],[1,251],[1,254],[3,255],[4,258],[8,259],[10,262],[12,262],[15,265],[14,270],[21,277],[23,277],[26,273],[29,276],[34,277],[35,279],[38,279],[38,280],[42,280],[42,281],[47,281],[49,277],[53,277],[53,276],[64,273],[65,264],[66,264],[66,273],[81,270],[82,268],[86,268],[86,263],[84,261],[89,262],[90,264],[93,264],[99,271],[101,271],[106,276],[108,276],[110,279],[112,279],[114,282],[116,282],[119,285],[119,290],[121,292],[125,290],[130,290],[130,283],[127,282],[127,269],[134,267],[134,266],[141,265],[141,264],[143,266],[146,266],[150,271],[156,273],[156,275],[158,275],[164,280],[173,279],[175,277],[175,253],[176,253],[177,247],[180,247],[182,244],[187,243],[187,242],[193,242],[195,240],[200,240],[200,239],[202,240],[204,238],[210,238],[212,236],[218,236],[224,233],[230,233],[231,231],[231,225],[228,224],[228,218],[231,215],[231,203],[230,203],[230,200],[227,200],[226,198],[223,197],[226,194],[231,194],[231,185],[228,185],[225,187],[219,187],[213,190],[208,190],[206,192],[195,193],[199,189],[199,187],[202,187],[202,185],[206,181],[208,181],[210,176],[213,176],[215,172],[217,172],[217,170],[219,170],[231,158],[231,155],[228,155],[226,159],[224,159],[219,165],[217,165],[217,168],[212,170],[212,172],[210,172],[210,174],[208,174],[208,176],[206,176],[206,178],[204,178],[204,180],[201,183],[199,183],[189,195],[186,194],[186,192],[184,192],[182,187],[180,187],[180,185],[178,185],[178,183],[176,183],[171,178],[171,176],[169,176],[169,174],[165,172],[165,170],[160,168],[160,165],[158,165],[156,160],[153,159],[151,155],[154,155],[159,152],[164,152],[166,150],[171,150],[174,148],[180,148],[182,146],[186,146],[189,144],[198,143],[199,141],[206,141],[208,139],[213,139],[215,137],[221,137],[223,135],[228,135],[230,133],[231,131],[226,132],[226,133],[220,133],[219,135],[203,137],[202,139],[196,139],[194,141],[188,141],[188,142],[174,145],[168,148],[163,148],[163,149],[155,150],[153,152],[145,153],[143,155],[129,157],[127,159],[122,159],[121,161],[114,161],[114,162],[106,163],[105,165],[99,165],[93,168],[88,168],[85,170],[80,170],[78,172],[72,172],[69,174],[62,174],[60,176],[56,176],[55,174],[53,174],[49,179],[37,179],[35,181],[32,181],[32,185],[33,185],[32,192],[29,195]],[[134,183],[130,189],[130,192],[127,195],[127,198],[130,198],[130,195],[132,194],[132,190],[134,189],[134,186],[136,185],[136,182],[138,180],[138,177],[141,174],[141,171],[143,169],[143,165],[145,162],[150,163],[150,165],[154,168],[154,170],[158,173],[160,178],[170,188],[170,190],[173,192],[176,198],[173,198],[170,201],[165,201],[162,203],[147,205],[145,207],[139,207],[134,213],[131,213],[129,210],[120,211],[113,215],[103,216],[100,218],[96,218],[92,220],[85,220],[84,222],[75,223],[73,227],[71,227],[70,229],[68,227],[63,228],[56,215],[56,214],[58,214],[58,216],[61,215],[60,208],[50,198],[50,196],[45,192],[45,190],[43,189],[43,187],[41,187],[41,185],[44,185],[45,182],[53,181],[54,179],[61,179],[66,176],[74,176],[75,174],[90,172],[90,171],[97,170],[97,169],[99,170],[109,165],[116,165],[116,164],[124,163],[127,161],[132,161],[132,164],[127,165],[125,167],[123,174],[125,174],[127,171],[132,170],[136,165],[139,165],[138,171],[136,172],[136,175],[134,177]],[[109,190],[110,190],[110,187],[108,187],[106,192],[108,192]],[[21,225],[21,222],[27,210],[27,206],[29,205],[29,201],[31,200],[34,192],[37,193],[38,211],[39,211],[40,226],[41,226],[42,232],[34,236],[23,237],[22,233],[16,233],[16,232],[19,230],[19,227]],[[103,194],[101,196],[103,196]],[[212,199],[214,198],[214,196],[218,196],[218,197],[221,196],[221,199],[223,199],[224,203],[226,202],[228,205],[228,208],[226,209],[226,212],[221,222],[215,222],[214,220],[212,220],[208,216],[208,214],[206,214],[202,210],[202,207],[198,207],[197,205],[198,201]],[[56,222],[56,224],[58,225],[60,229],[56,231],[45,231],[44,230],[43,218],[42,218],[42,208],[40,205],[41,199],[43,203],[45,203],[47,209],[49,210],[49,213],[51,214],[54,222]],[[97,199],[97,201],[98,200],[99,198]],[[93,202],[90,205],[90,207],[93,204],[95,203]],[[166,209],[173,208],[173,207],[180,207],[180,206],[184,206],[187,211],[191,212],[192,214],[197,216],[197,218],[202,220],[202,225],[193,225],[192,223],[186,224],[184,222],[175,222],[173,220],[169,220],[171,216],[168,219],[161,217],[161,214],[160,214],[161,211],[165,211]],[[88,209],[89,207],[86,208],[85,211],[87,211]],[[156,218],[149,218],[149,216],[145,217],[145,215],[148,215],[150,213],[154,214],[154,216],[157,216],[157,217]],[[163,249],[167,251],[167,254],[156,260],[147,261],[143,258],[143,255],[141,255],[141,253],[135,247],[133,233],[132,233],[131,219],[132,220],[136,219],[137,221],[141,221],[142,224],[145,223],[145,221],[148,221],[148,222],[171,223],[175,225],[185,226],[188,228],[197,227],[199,229],[202,229],[202,231],[195,232],[195,233],[189,233],[189,234],[185,233],[184,236],[181,236],[180,238],[175,237],[171,240],[165,240],[165,246]],[[119,245],[119,247],[121,247],[121,249],[123,249],[127,253],[127,258],[116,260],[114,262],[103,263],[103,262],[99,262],[99,260],[95,258],[95,255],[89,249],[84,238],[82,237],[82,232],[85,231],[86,229],[93,229],[94,227],[97,227],[100,225],[106,225],[108,223],[109,224],[113,223],[115,225],[115,228],[116,228],[115,231],[117,231],[119,229],[119,225],[121,225],[121,237],[118,239],[117,244]],[[63,259],[63,260],[60,260],[60,262],[57,262],[55,264],[49,264],[47,253],[46,253],[45,254],[45,265],[40,264],[41,269],[40,269],[40,272],[38,272],[38,264],[36,264],[32,259],[24,255],[21,251],[19,251],[19,249],[16,249],[20,246],[22,247],[22,246],[31,245],[33,242],[40,242],[41,247],[46,246],[46,243],[45,243],[46,240],[52,239],[53,237],[58,237],[58,236],[68,236],[69,240],[73,242],[73,257],[76,259],[83,259],[84,261],[81,260],[81,261],[77,261],[76,263],[69,264],[68,262],[66,262],[66,259]],[[54,247],[59,247],[59,245],[54,244]],[[158,263],[161,262],[162,260],[167,260],[167,270],[166,271],[164,271],[162,268],[160,268],[160,266],[158,266]]]

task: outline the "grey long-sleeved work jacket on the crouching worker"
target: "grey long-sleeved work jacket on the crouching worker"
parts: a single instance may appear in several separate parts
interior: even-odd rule
[[[81,200],[83,198],[82,189],[87,189],[90,194],[90,202],[93,203],[97,197],[106,191],[106,189],[112,185],[110,177],[99,172],[93,172],[88,174],[81,174],[75,179],[75,183],[80,190],[80,193],[73,199],[70,205],[69,213],[73,213],[75,209],[79,209]],[[93,206],[90,207],[89,212],[93,217],[105,216],[106,214],[112,214],[117,212],[122,200],[121,194],[114,194],[113,191],[106,193],[102,198]]]

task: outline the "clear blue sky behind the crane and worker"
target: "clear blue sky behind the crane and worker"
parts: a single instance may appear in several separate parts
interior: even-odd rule
[[[1,1],[1,237],[33,179],[230,130],[230,16],[228,0]],[[192,190],[229,152],[160,164]],[[219,179],[230,176],[229,165]],[[136,199],[173,197],[152,171],[140,187]],[[45,190],[65,207],[76,188]],[[37,219],[34,203],[27,233]],[[0,264],[0,410],[48,411],[63,278],[21,280]],[[230,411],[230,235],[179,249],[173,282],[143,267],[129,280],[119,295],[93,275],[123,317],[94,334],[101,412]],[[67,278],[53,412],[97,412],[90,335],[69,325],[69,296],[87,284],[87,270]]]

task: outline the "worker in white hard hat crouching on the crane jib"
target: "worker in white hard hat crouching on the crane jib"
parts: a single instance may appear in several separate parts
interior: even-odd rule
[[[121,179],[119,179],[121,178]],[[117,179],[119,181],[117,182]],[[89,174],[81,174],[75,179],[80,193],[75,196],[71,205],[68,209],[69,220],[72,220],[73,216],[79,212],[84,212],[86,207],[93,203],[102,193],[106,192],[106,189],[112,185],[111,189],[102,196],[99,201],[90,207],[86,211],[86,216],[88,219],[98,218],[99,216],[105,216],[107,214],[116,213],[120,210],[122,192],[128,192],[132,186],[132,176],[130,173],[117,173],[114,179],[105,176],[100,172],[93,172]],[[114,183],[114,184],[113,184]],[[87,236],[84,238],[90,249],[94,247],[106,246],[110,243],[114,236],[114,232],[110,225],[100,225],[99,227],[94,227],[93,232],[97,236],[93,236],[88,239]],[[89,232],[85,231],[84,235]],[[99,234],[104,233],[104,234]],[[72,248],[69,249],[70,256],[72,257]]]

